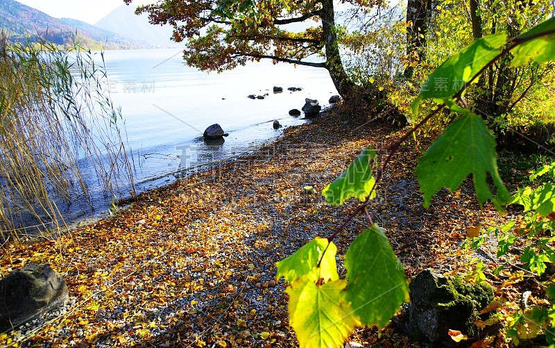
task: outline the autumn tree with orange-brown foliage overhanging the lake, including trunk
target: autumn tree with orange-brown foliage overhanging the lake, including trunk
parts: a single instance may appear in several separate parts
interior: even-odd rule
[[[370,8],[377,1],[343,3]],[[173,26],[173,40],[187,42],[184,58],[193,67],[221,72],[263,58],[323,67],[348,99],[356,86],[341,62],[335,12],[333,0],[162,0],[136,11],[148,13],[151,24]],[[305,29],[291,28],[298,26]]]

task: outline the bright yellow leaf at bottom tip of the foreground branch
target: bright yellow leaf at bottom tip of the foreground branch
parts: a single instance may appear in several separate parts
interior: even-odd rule
[[[298,280],[285,290],[289,294],[289,324],[297,333],[299,347],[342,347],[359,320],[345,301],[345,281],[317,286]]]

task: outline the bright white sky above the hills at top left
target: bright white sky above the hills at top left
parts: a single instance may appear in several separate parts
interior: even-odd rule
[[[123,5],[123,0],[17,0],[27,6],[41,10],[52,17],[69,17],[79,19],[88,24],[96,24],[99,19],[108,15],[114,8]],[[137,3],[155,3],[156,1],[133,1]],[[132,5],[133,6],[133,5]]]

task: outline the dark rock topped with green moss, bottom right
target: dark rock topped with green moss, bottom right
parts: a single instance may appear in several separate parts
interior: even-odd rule
[[[493,288],[488,283],[472,285],[459,276],[444,277],[431,270],[417,274],[410,291],[409,319],[400,327],[416,340],[441,347],[459,346],[450,338],[450,329],[475,337],[478,328],[474,321],[487,319],[479,312],[493,301]]]

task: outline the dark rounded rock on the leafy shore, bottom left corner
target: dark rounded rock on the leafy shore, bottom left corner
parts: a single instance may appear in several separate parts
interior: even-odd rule
[[[67,301],[65,281],[49,265],[30,263],[0,280],[0,332],[10,331]]]

